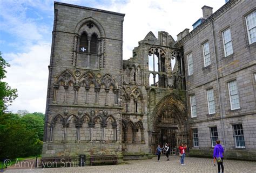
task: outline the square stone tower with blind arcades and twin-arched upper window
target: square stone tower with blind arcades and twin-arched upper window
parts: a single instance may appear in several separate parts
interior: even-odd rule
[[[120,155],[123,20],[124,14],[55,2],[42,157]]]

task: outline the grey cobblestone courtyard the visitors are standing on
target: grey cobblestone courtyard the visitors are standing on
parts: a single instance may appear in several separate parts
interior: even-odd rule
[[[185,157],[184,166],[180,165],[178,156],[171,156],[170,161],[161,156],[160,162],[154,157],[126,163],[83,168],[7,169],[5,172],[218,172],[217,165],[214,167],[210,158]],[[225,160],[224,167],[225,172],[256,172],[256,162]]]

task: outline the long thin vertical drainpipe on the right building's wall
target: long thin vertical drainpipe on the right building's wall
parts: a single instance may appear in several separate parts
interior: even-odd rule
[[[214,32],[213,32],[213,21],[212,21],[211,25],[212,25],[212,39],[213,39],[213,44],[214,44],[213,50],[214,50],[214,57],[215,57],[215,70],[216,70],[216,76],[217,76],[217,89],[218,89],[219,104],[220,104],[221,126],[222,126],[224,145],[225,145],[224,149],[226,150],[227,146],[226,146],[226,138],[225,138],[225,132],[224,132],[223,109],[222,109],[221,98],[220,98],[219,74],[218,74],[218,67],[217,67],[217,55],[216,55],[216,50],[215,50],[215,39],[214,39]]]

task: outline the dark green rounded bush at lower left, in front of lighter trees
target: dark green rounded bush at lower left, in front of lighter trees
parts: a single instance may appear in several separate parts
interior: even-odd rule
[[[17,114],[3,113],[0,116],[0,158],[30,156],[38,150],[35,130],[29,130]]]

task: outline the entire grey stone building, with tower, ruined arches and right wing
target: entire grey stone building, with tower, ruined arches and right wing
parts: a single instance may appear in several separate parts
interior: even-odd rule
[[[123,60],[124,14],[55,2],[42,157],[122,162],[165,142],[211,157],[220,140],[255,161],[256,3],[202,9],[191,32],[149,32]]]

